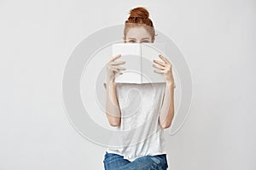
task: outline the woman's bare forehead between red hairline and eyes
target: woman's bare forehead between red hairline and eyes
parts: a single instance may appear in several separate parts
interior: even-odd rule
[[[151,38],[150,34],[143,26],[131,27],[126,34],[126,38],[142,39],[145,37]]]

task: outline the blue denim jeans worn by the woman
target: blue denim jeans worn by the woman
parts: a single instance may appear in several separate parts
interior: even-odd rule
[[[124,156],[106,151],[103,163],[105,170],[166,170],[168,167],[166,154],[142,156],[129,161]]]

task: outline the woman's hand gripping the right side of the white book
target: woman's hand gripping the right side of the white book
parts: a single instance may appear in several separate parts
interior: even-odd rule
[[[174,79],[172,75],[172,64],[161,54],[158,55],[160,59],[162,59],[164,62],[153,59],[154,63],[153,67],[156,68],[154,72],[164,74],[164,77],[166,78],[166,82],[174,84]]]

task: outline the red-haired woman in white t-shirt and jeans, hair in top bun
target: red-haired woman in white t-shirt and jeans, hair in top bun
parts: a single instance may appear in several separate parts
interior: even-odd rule
[[[130,17],[125,21],[124,42],[154,42],[154,26],[148,16],[146,8],[131,9]],[[142,130],[137,128],[135,132],[126,133],[121,139],[113,137],[113,141],[120,141],[124,147],[108,148],[104,156],[104,167],[106,170],[167,169],[166,151],[162,147],[162,135],[163,129],[171,126],[174,116],[173,94],[175,85],[172,65],[162,55],[158,56],[160,60],[154,59],[152,61],[154,67],[152,69],[155,73],[162,74],[166,82],[115,83],[114,78],[125,70],[125,67],[121,66],[125,64],[124,61],[115,61],[119,57],[121,57],[120,54],[113,56],[107,65],[105,88],[107,89],[106,113],[108,122],[111,126],[117,127],[118,130],[131,130],[139,127],[138,125],[141,126]],[[131,89],[137,89],[137,92],[140,93],[129,93],[131,99],[128,108],[125,108],[125,93],[127,94]],[[136,105],[137,102],[139,102],[139,106]],[[120,107],[125,109],[121,112]],[[136,136],[144,140],[137,144],[131,144],[131,140]]]

